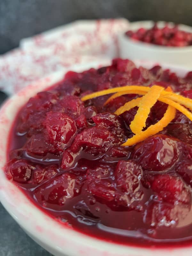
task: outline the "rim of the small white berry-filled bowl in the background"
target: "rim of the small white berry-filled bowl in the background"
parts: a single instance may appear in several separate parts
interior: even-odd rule
[[[140,27],[143,28],[151,28],[154,25],[155,21],[153,20],[140,20],[140,21],[133,21],[130,22],[129,24],[129,30],[137,30]],[[156,22],[157,25],[160,25],[160,27],[164,26],[165,24],[168,24],[170,26],[175,25],[175,23],[173,22],[167,22],[167,21],[163,21],[163,20],[159,20]],[[191,32],[192,33],[192,27],[185,25],[185,24],[178,24],[178,28],[187,32]],[[134,45],[138,45],[138,46],[142,46],[144,47],[144,49],[151,49],[151,50],[158,50],[158,51],[164,51],[164,52],[188,52],[188,51],[192,51],[192,45],[189,46],[183,46],[183,47],[174,47],[174,46],[165,46],[165,45],[158,45],[158,44],[150,44],[150,43],[146,43],[146,42],[142,42],[139,40],[134,40],[132,38],[130,38],[129,36],[125,35],[125,32],[122,35],[119,35],[119,37],[123,37],[126,38],[126,40]]]

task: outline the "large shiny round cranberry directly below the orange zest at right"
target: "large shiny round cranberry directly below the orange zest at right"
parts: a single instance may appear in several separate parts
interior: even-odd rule
[[[179,141],[159,134],[138,143],[133,150],[133,159],[143,169],[163,171],[172,167],[180,151]]]

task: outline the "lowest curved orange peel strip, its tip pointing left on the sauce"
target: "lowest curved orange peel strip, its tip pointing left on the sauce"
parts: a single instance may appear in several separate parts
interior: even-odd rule
[[[172,106],[168,106],[164,116],[161,118],[159,122],[153,124],[147,128],[145,131],[141,131],[140,133],[134,135],[132,138],[128,139],[121,146],[132,146],[138,142],[141,142],[147,139],[149,136],[155,135],[157,132],[163,130],[175,117],[176,109]]]

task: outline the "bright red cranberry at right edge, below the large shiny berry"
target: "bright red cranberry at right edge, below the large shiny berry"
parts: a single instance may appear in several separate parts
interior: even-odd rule
[[[164,202],[177,204],[190,204],[191,195],[180,179],[170,174],[155,175],[151,182],[151,188],[162,198]]]

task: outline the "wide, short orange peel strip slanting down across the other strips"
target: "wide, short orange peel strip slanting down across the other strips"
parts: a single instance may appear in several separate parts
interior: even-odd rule
[[[146,120],[150,113],[151,108],[154,106],[164,87],[153,85],[148,93],[146,93],[139,102],[137,113],[130,124],[133,133],[140,133],[146,126]]]

